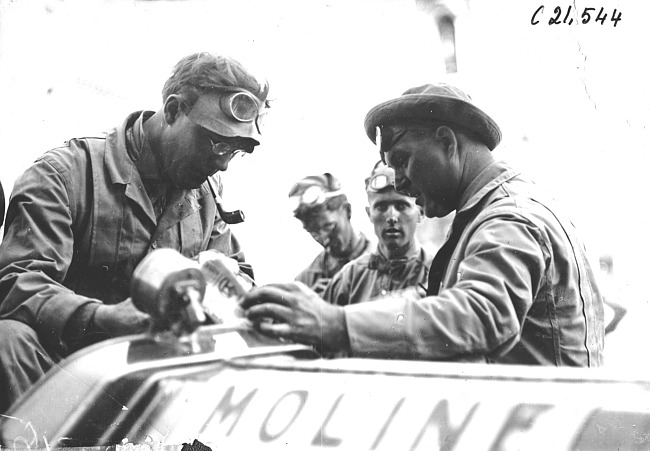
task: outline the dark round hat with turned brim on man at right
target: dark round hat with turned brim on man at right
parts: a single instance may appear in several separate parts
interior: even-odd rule
[[[501,141],[501,130],[494,120],[472,103],[460,89],[444,84],[427,84],[411,88],[401,96],[382,102],[366,115],[364,126],[372,142],[378,126],[426,123],[438,120],[461,125],[493,150]]]

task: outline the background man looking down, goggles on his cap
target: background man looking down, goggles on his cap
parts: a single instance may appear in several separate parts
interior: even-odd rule
[[[332,174],[313,175],[298,181],[289,192],[289,201],[294,216],[323,247],[296,280],[322,293],[346,263],[368,250],[370,242],[352,227],[352,207]]]

